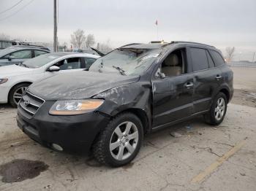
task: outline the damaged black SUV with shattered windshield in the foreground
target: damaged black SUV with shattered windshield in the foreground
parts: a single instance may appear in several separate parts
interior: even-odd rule
[[[215,47],[128,44],[89,71],[32,84],[17,121],[40,144],[92,151],[100,163],[120,166],[138,154],[146,133],[198,115],[219,125],[232,96],[233,71]]]

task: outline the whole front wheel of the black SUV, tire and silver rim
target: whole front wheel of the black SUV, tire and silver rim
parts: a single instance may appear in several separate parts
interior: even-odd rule
[[[142,141],[143,125],[140,119],[125,112],[108,123],[92,149],[99,163],[118,167],[130,163],[138,155]]]

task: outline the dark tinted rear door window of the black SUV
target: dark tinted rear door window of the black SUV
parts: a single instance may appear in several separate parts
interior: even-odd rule
[[[206,50],[201,48],[190,48],[193,71],[208,69]]]

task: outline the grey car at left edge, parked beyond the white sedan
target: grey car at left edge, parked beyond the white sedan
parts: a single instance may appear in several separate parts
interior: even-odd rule
[[[0,66],[23,63],[30,58],[49,53],[50,50],[42,46],[17,45],[0,50]]]

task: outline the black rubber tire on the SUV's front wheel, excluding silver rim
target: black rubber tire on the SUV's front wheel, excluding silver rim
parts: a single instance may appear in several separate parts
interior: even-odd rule
[[[110,151],[110,143],[111,143],[110,141],[112,141],[113,139],[114,131],[119,127],[120,124],[125,122],[132,122],[133,124],[132,128],[136,127],[136,129],[138,130],[136,131],[138,132],[137,141],[135,142],[135,140],[131,140],[131,141],[134,141],[132,142],[132,144],[137,143],[137,146],[135,147],[134,151],[131,154],[128,152],[128,149],[127,149],[127,153],[128,153],[127,155],[129,155],[129,157],[127,157],[124,160],[117,160],[115,157],[113,157],[113,152]],[[120,129],[121,128],[122,127],[120,126]],[[129,132],[132,132],[132,130]],[[121,130],[121,133],[124,133],[124,132]],[[108,126],[97,137],[97,141],[93,145],[92,149],[93,149],[94,157],[99,161],[99,163],[110,165],[113,167],[118,167],[118,166],[126,165],[127,163],[130,163],[136,157],[136,155],[138,155],[142,141],[143,141],[143,125],[140,119],[135,114],[132,114],[130,112],[125,112],[122,114],[118,114],[116,117],[113,118],[113,120],[111,120],[108,123]],[[121,146],[121,144],[122,143],[120,141],[120,145],[116,147],[118,152],[119,152],[119,149],[123,147]],[[115,151],[115,149],[113,149],[113,151]]]

